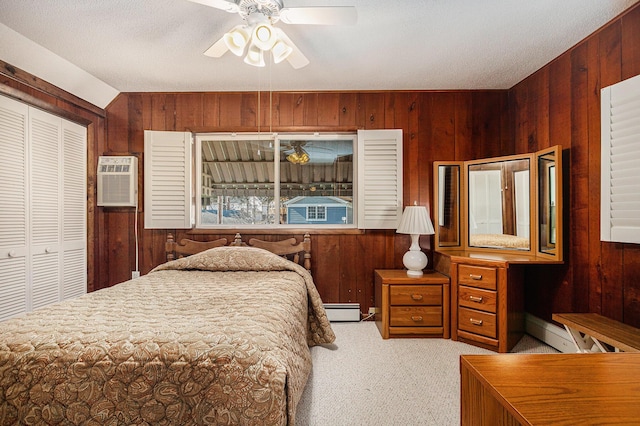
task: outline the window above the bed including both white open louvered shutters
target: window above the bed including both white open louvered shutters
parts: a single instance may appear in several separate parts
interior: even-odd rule
[[[398,129],[280,135],[145,130],[144,161],[146,229],[393,229],[402,214]],[[312,218],[309,206],[316,207]]]

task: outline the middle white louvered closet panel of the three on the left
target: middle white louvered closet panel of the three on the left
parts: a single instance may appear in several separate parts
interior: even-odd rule
[[[61,121],[31,109],[31,309],[60,300]]]

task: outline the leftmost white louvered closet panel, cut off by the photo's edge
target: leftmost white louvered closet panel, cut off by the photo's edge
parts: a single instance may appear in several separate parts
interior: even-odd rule
[[[0,96],[0,321],[27,310],[27,117]]]

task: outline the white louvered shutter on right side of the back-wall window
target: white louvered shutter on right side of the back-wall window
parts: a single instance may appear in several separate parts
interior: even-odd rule
[[[358,130],[358,228],[395,229],[402,215],[402,130]]]

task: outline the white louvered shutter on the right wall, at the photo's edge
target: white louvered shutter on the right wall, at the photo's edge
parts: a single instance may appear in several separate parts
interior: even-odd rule
[[[640,244],[640,75],[601,92],[600,239]]]

